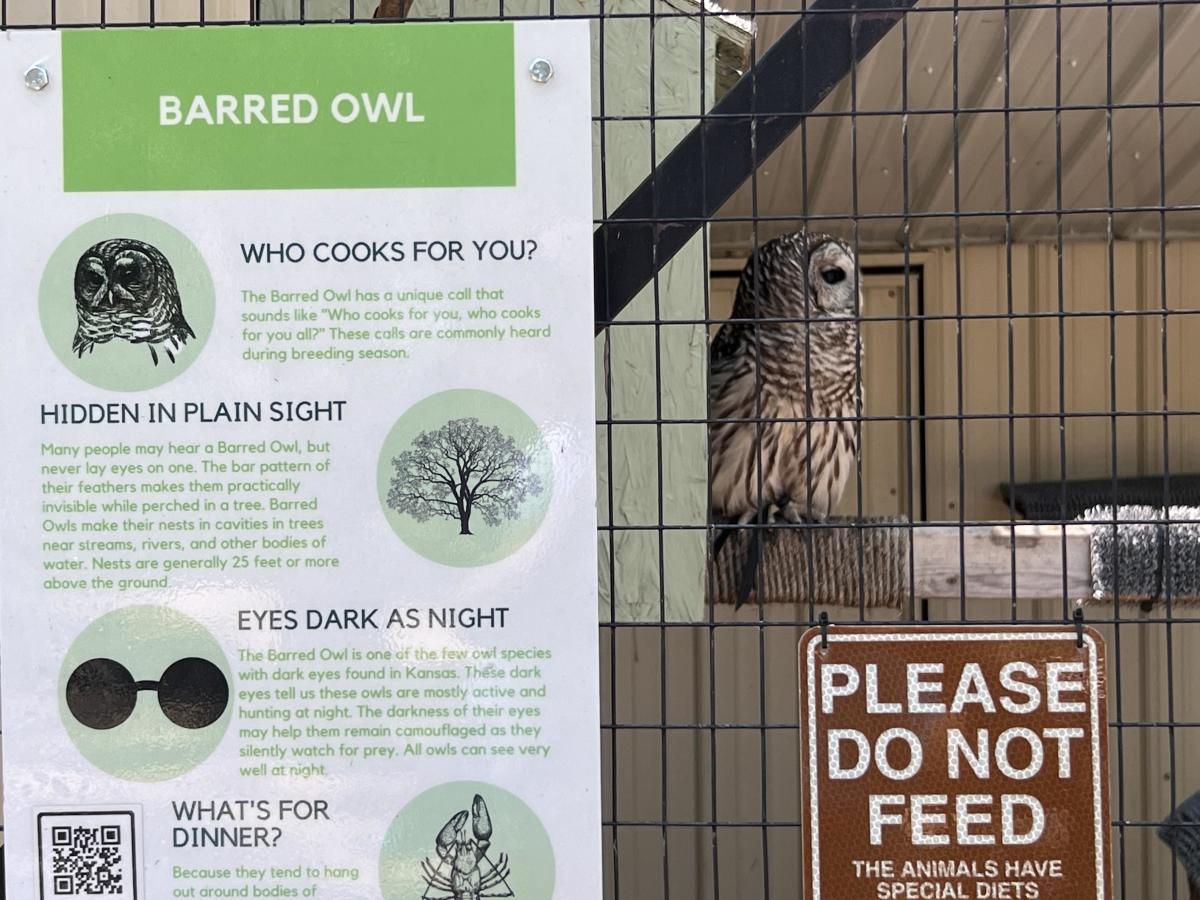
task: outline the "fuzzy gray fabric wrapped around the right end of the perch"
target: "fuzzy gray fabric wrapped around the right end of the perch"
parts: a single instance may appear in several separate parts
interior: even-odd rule
[[[1096,600],[1200,601],[1200,508],[1093,506],[1081,518],[1093,523]]]

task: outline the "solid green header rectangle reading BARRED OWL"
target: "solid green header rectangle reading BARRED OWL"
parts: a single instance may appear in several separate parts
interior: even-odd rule
[[[66,191],[516,184],[511,23],[62,32]]]

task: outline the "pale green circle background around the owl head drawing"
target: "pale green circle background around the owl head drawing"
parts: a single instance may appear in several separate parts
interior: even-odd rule
[[[157,247],[170,263],[184,316],[196,332],[175,354],[174,362],[160,350],[155,365],[146,344],[120,338],[96,344],[82,358],[71,349],[77,325],[76,264],[89,247],[114,238],[132,238]],[[97,388],[143,391],[166,384],[196,361],[212,331],[216,302],[209,268],[187,236],[157,218],[119,212],[80,226],[55,248],[42,272],[37,306],[46,341],[71,372]]]

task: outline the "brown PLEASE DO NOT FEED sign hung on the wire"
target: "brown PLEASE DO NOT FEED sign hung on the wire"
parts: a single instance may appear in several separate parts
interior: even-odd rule
[[[799,673],[805,896],[1110,896],[1094,631],[835,625]]]

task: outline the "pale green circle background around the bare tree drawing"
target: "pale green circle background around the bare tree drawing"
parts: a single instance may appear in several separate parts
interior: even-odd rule
[[[472,534],[460,534],[456,518],[427,518],[424,522],[388,505],[388,491],[395,472],[392,460],[412,448],[424,432],[437,431],[450,420],[478,419],[511,438],[532,460],[530,469],[540,491],[529,494],[517,508],[516,518],[488,524],[481,515],[472,516]],[[388,523],[409,547],[436,563],[455,566],[486,565],[514,553],[541,524],[553,492],[553,468],[541,431],[524,410],[496,394],[480,390],[449,390],[419,401],[400,418],[379,451],[377,472],[379,503]]]

